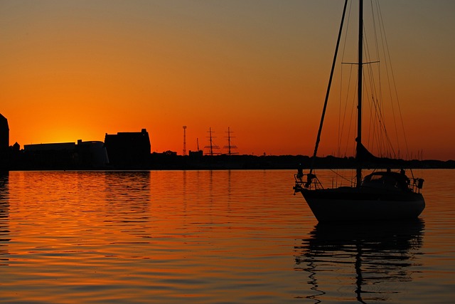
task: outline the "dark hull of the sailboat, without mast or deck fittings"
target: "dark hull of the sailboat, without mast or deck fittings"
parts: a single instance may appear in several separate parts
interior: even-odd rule
[[[301,189],[318,221],[417,219],[425,208],[422,194],[382,189],[341,187]]]

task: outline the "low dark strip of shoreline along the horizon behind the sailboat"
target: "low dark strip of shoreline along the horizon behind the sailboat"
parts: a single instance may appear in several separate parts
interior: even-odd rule
[[[26,155],[3,158],[0,170],[223,170],[223,169],[309,169],[311,157],[305,155],[198,155],[151,153],[147,159],[124,159],[117,164],[94,165],[90,159],[81,159],[74,154],[67,157],[54,155]],[[403,160],[377,158],[363,163],[366,169],[455,169],[455,161],[437,159]],[[315,169],[355,169],[354,157],[316,157]]]

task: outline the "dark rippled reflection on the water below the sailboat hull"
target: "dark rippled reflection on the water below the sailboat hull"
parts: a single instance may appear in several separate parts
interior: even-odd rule
[[[324,295],[354,284],[360,303],[387,300],[399,293],[394,283],[412,281],[423,229],[420,219],[387,224],[317,224],[309,239],[296,247],[296,270],[309,273],[314,293],[307,298],[319,303]]]

